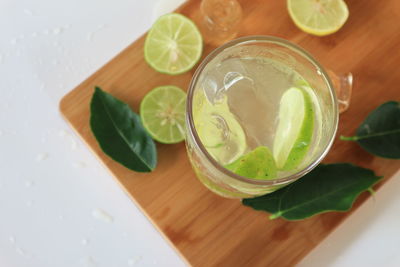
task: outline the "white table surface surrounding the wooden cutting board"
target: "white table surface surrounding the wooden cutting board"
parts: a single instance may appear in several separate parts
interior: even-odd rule
[[[178,2],[0,0],[0,266],[185,266],[58,111]],[[400,266],[399,188],[299,266]]]

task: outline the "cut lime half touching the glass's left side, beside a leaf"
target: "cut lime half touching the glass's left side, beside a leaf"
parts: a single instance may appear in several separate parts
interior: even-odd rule
[[[140,103],[140,117],[147,132],[164,144],[185,139],[186,93],[168,85],[151,90]]]

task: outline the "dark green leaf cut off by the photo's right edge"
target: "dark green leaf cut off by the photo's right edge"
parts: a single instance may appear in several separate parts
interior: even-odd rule
[[[400,159],[400,102],[389,101],[372,111],[352,137],[368,152],[383,158]]]

